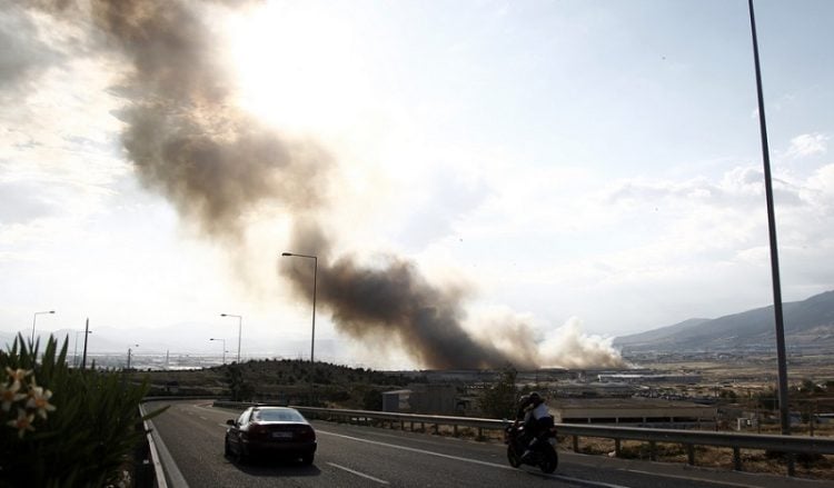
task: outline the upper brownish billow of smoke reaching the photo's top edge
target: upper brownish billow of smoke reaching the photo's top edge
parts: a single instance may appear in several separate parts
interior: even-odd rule
[[[222,240],[242,233],[261,205],[288,211],[322,205],[330,158],[289,141],[229,103],[214,38],[189,7],[173,1],[99,1],[96,23],[131,60],[122,91],[125,148],[148,188]]]

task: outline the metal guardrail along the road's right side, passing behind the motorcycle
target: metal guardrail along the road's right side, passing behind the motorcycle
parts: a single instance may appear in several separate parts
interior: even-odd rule
[[[407,422],[411,425],[411,430],[414,430],[415,424],[424,425],[424,429],[425,425],[431,425],[434,426],[435,432],[438,432],[439,426],[451,426],[455,435],[458,434],[458,427],[469,427],[478,429],[478,437],[483,437],[483,430],[503,430],[507,426],[506,420],[479,419],[469,417],[395,414],[370,410],[342,410],[300,406],[294,406],[294,408],[302,414],[312,415],[317,418],[324,417],[326,419],[335,419],[337,421],[341,420],[345,422],[367,424],[369,420],[399,422],[403,430],[405,430],[405,425]],[[615,456],[619,457],[620,441],[638,440],[648,442],[649,458],[652,460],[656,460],[656,445],[658,442],[678,444],[685,446],[687,451],[687,462],[693,466],[695,465],[695,446],[732,448],[734,469],[738,471],[742,470],[742,449],[786,454],[788,461],[788,476],[794,475],[793,457],[797,454],[834,455],[834,438],[614,427],[599,425],[594,426],[578,424],[557,424],[556,428],[559,432],[559,436],[573,437],[574,451],[579,450],[579,438],[583,437],[613,439]]]

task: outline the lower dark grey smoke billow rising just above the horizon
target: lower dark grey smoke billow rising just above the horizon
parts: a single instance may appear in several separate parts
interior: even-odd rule
[[[315,223],[297,225],[294,236],[292,249],[318,257],[318,299],[331,310],[339,330],[351,337],[397,345],[430,368],[535,367],[535,351],[519,348],[507,353],[463,328],[466,289],[431,285],[414,262],[398,257],[389,257],[379,268],[360,267],[349,256],[331,262],[330,246]],[[298,296],[309,299],[310,263],[286,260],[281,269]]]

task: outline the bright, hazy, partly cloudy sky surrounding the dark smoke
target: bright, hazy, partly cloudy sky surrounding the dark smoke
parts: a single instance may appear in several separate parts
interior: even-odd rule
[[[309,338],[310,303],[279,256],[314,252],[291,249],[309,209],[259,198],[195,221],[125,146],[166,82],[217,88],[224,111],[324,158],[285,183],[326,188],[329,259],[396,256],[466,290],[463,327],[499,349],[520,332],[548,358],[592,353],[772,303],[746,1],[175,2],[210,39],[200,71],[146,84],[96,2],[19,3],[0,1],[0,330],[54,309],[39,329],[182,325],[209,348],[236,336],[228,312],[245,349],[307,353],[282,349]],[[800,300],[834,288],[834,3],[755,7],[783,295]],[[255,191],[242,168],[218,191]],[[419,362],[317,312],[331,360]]]

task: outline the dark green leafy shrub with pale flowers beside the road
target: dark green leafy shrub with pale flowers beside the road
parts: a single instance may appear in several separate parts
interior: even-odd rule
[[[126,485],[145,435],[138,405],[148,382],[69,368],[66,339],[58,351],[50,337],[38,356],[22,336],[0,351],[0,487]]]

